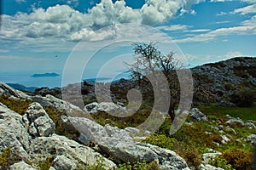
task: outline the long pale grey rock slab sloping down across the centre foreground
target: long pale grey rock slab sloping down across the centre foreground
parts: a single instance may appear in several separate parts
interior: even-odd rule
[[[118,127],[97,124],[87,118],[70,117],[74,127],[98,144],[101,153],[113,157],[116,162],[157,161],[164,169],[189,169],[182,157],[172,150],[132,140],[130,133]]]

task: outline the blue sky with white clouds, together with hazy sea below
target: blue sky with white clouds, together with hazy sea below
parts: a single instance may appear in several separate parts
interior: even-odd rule
[[[191,66],[254,57],[256,0],[2,0],[0,81],[3,75],[62,74],[72,62],[73,71],[84,63],[90,63],[87,72],[98,71],[114,56],[131,58],[131,42],[161,44],[166,37]],[[123,70],[120,61],[110,63]]]

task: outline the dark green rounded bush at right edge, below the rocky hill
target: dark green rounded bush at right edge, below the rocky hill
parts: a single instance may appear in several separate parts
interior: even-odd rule
[[[230,101],[239,107],[252,107],[255,101],[256,91],[243,89],[230,96]]]

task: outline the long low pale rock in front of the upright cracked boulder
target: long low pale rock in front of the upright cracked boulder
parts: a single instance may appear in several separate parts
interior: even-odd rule
[[[113,161],[96,153],[90,147],[55,133],[50,137],[32,139],[29,147],[29,155],[32,161],[37,161],[38,157],[42,156],[66,156],[73,162],[84,163],[88,166],[97,165],[98,161],[102,160],[106,169],[116,167]]]

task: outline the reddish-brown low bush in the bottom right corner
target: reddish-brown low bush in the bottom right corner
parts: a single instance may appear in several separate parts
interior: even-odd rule
[[[225,151],[223,157],[236,170],[251,170],[252,168],[252,153],[233,149]]]

